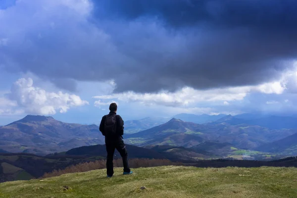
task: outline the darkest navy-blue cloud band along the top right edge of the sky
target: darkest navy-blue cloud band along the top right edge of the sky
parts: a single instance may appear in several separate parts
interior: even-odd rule
[[[103,3],[102,3],[103,2]],[[135,20],[159,17],[173,27],[209,22],[219,27],[296,29],[296,0],[103,0],[99,15]],[[102,9],[100,9],[102,8]]]

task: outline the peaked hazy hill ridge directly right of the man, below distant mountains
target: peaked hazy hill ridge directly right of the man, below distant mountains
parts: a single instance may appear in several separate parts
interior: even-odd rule
[[[270,130],[247,124],[232,126],[224,122],[202,125],[173,118],[160,126],[125,135],[124,140],[137,146],[170,145],[185,148],[191,148],[207,141],[216,141],[231,144],[236,148],[254,149],[295,133],[297,133],[296,129]]]

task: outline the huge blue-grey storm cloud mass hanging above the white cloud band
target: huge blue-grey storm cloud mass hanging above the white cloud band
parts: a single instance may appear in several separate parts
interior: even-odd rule
[[[0,46],[2,63],[48,79],[65,78],[67,83],[56,84],[70,90],[69,79],[114,79],[117,92],[156,92],[271,81],[297,56],[295,0],[94,3],[90,21],[61,7],[46,21],[36,17],[21,39]]]

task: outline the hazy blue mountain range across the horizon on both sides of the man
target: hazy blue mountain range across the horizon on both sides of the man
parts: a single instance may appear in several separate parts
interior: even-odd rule
[[[179,115],[186,116],[187,114]],[[146,148],[167,145],[172,147],[171,150],[166,151],[167,155],[170,152],[174,155],[179,153],[180,156],[181,153],[187,153],[197,158],[229,156],[236,150],[236,153],[241,152],[239,150],[256,150],[274,153],[288,151],[287,153],[291,154],[297,150],[294,142],[297,133],[297,129],[294,128],[295,117],[252,114],[201,116],[208,117],[208,121],[204,124],[186,122],[177,118],[172,118],[167,122],[166,118],[127,121],[124,122],[124,141],[129,145]],[[191,117],[197,116],[190,114]],[[211,121],[210,118],[218,119]],[[259,120],[266,122],[261,123]],[[280,127],[282,120],[287,120],[284,122],[288,126],[285,129],[280,129],[283,128]],[[129,134],[126,133],[126,128],[135,131],[148,129]],[[21,120],[0,127],[0,152],[45,155],[71,148],[103,144],[104,137],[99,132],[99,126],[64,123],[49,116],[28,115]],[[269,148],[269,144],[281,146],[275,149],[265,148]],[[283,148],[285,145],[288,148]]]

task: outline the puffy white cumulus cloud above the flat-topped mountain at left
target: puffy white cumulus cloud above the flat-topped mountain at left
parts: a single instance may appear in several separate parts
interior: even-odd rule
[[[79,96],[67,93],[47,92],[33,86],[31,78],[19,79],[11,87],[9,98],[17,102],[18,106],[23,108],[26,113],[52,115],[58,110],[65,113],[73,106],[82,106],[89,104]]]

